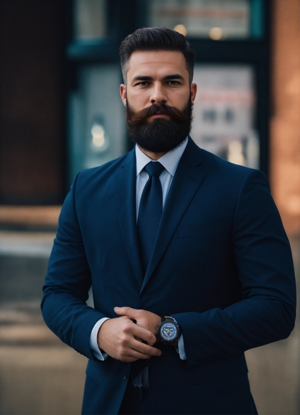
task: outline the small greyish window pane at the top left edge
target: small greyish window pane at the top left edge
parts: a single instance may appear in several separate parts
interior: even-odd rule
[[[74,37],[94,40],[106,35],[106,0],[75,0]]]

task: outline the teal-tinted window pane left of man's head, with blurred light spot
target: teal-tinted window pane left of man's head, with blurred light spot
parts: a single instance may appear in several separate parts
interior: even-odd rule
[[[70,181],[83,169],[100,166],[126,150],[125,107],[117,64],[88,65],[69,96]]]

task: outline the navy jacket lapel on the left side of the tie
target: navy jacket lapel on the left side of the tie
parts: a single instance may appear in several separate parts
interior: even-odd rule
[[[142,285],[139,245],[136,230],[136,160],[135,150],[128,153],[121,164],[121,170],[115,175],[115,197],[118,219],[125,248],[139,285]]]

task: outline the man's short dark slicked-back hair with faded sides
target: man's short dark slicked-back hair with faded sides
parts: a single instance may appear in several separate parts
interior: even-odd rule
[[[141,28],[128,35],[120,45],[120,58],[125,82],[127,65],[133,52],[140,51],[178,51],[185,58],[189,82],[193,80],[195,51],[183,35],[166,27]]]

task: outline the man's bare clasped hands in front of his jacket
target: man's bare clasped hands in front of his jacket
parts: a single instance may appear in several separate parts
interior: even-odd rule
[[[97,340],[101,350],[122,362],[161,356],[161,350],[153,347],[157,342],[159,316],[131,307],[115,307],[114,310],[121,317],[106,320],[100,327]]]

